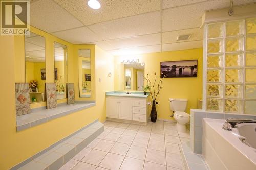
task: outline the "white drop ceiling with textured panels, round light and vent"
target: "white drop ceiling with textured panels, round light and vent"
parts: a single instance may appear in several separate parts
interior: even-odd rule
[[[94,10],[87,1],[31,1],[31,25],[74,44],[96,44],[113,55],[139,54],[203,47],[199,27],[204,11],[229,7],[228,0],[98,0],[101,8]],[[234,0],[234,5],[255,2]],[[191,36],[177,41],[184,34]]]

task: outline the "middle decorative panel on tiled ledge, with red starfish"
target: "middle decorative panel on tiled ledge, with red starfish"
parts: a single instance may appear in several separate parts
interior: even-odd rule
[[[57,94],[55,83],[45,83],[47,109],[57,107]]]

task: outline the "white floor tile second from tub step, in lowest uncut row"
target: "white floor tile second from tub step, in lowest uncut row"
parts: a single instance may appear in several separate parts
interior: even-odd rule
[[[147,149],[146,161],[166,165],[165,152]]]

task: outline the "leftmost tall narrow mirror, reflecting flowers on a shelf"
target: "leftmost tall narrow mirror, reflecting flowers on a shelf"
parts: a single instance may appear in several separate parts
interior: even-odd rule
[[[45,37],[30,32],[25,35],[26,82],[30,102],[43,102],[46,82]]]

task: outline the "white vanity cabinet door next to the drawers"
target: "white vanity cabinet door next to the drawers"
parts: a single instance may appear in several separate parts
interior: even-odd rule
[[[133,101],[125,99],[120,100],[119,118],[125,120],[133,119]]]

